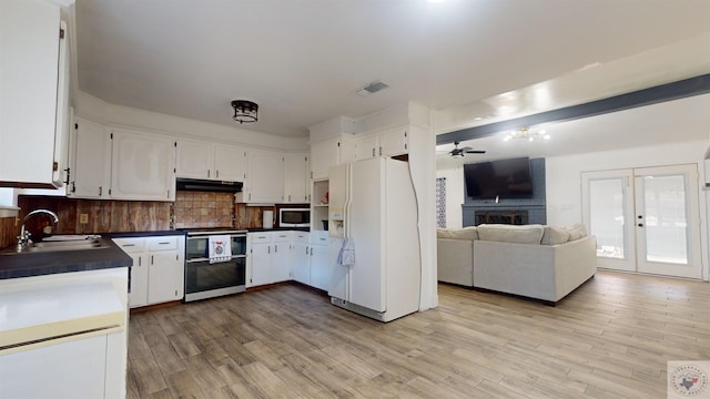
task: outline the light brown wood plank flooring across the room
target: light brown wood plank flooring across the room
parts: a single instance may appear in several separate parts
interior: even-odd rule
[[[666,398],[710,284],[610,272],[557,307],[439,285],[382,324],[298,285],[131,315],[129,398]]]

